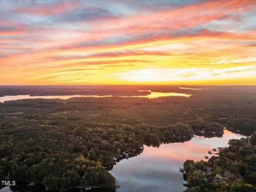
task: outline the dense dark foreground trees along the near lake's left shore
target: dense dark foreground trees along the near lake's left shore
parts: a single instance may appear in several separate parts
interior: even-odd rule
[[[159,145],[163,137],[193,135],[185,123],[156,127],[54,119],[3,119],[2,176],[9,171],[12,180],[42,183],[46,190],[65,191],[81,180],[84,186],[115,188],[115,178],[103,169],[103,164],[143,143]]]

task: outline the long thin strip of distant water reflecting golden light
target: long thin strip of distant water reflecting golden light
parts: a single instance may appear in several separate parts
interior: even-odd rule
[[[142,91],[138,91],[142,92]],[[143,91],[144,92],[144,91]],[[0,102],[4,101],[14,101],[18,99],[69,99],[73,97],[94,97],[94,98],[105,98],[105,97],[123,97],[123,98],[158,98],[158,97],[169,97],[169,96],[180,96],[180,97],[190,97],[190,94],[185,93],[162,93],[162,92],[151,92],[151,91],[145,91],[149,92],[148,95],[141,95],[141,96],[113,96],[113,95],[47,95],[47,96],[30,96],[30,95],[5,95],[4,97],[0,97]]]

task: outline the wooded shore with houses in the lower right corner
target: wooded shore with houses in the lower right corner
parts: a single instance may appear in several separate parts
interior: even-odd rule
[[[186,191],[256,191],[256,134],[228,144],[208,161],[184,163]]]

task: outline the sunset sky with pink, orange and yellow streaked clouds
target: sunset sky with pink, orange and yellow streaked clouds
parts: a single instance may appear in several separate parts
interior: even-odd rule
[[[0,1],[0,85],[256,85],[256,1]]]

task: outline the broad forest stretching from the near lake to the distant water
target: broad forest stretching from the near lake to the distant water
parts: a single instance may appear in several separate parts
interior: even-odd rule
[[[126,151],[182,142],[195,134],[220,137],[224,127],[255,132],[256,91],[216,89],[193,90],[189,98],[0,103],[0,178],[9,173],[12,180],[42,183],[46,190],[67,191],[78,185],[116,188],[115,178],[104,165]],[[246,179],[251,175],[250,180],[254,173],[241,175]]]

